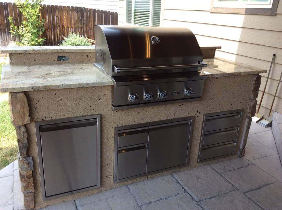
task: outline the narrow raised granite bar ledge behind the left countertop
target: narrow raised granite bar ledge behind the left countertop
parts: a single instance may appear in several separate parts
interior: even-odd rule
[[[0,54],[13,53],[56,53],[56,52],[95,52],[92,46],[31,46],[31,47],[1,47]]]

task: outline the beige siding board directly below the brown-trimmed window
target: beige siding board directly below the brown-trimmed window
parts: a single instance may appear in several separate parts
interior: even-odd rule
[[[192,23],[207,23],[214,25],[282,31],[282,24],[281,24],[282,14],[278,14],[276,16],[240,15],[240,14],[210,13],[208,11],[165,9],[164,19],[192,22]]]

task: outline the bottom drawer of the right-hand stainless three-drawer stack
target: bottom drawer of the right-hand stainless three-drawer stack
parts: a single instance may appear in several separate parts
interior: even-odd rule
[[[234,153],[235,143],[209,147],[202,150],[201,160],[219,157],[223,155],[230,155]]]

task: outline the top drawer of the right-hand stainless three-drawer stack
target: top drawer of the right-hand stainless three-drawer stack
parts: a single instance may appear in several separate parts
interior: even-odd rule
[[[240,113],[207,117],[205,132],[238,127],[240,119]]]

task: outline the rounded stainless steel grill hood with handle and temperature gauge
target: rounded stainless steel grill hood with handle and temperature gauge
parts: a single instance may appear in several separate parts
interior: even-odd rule
[[[110,76],[199,71],[205,65],[187,28],[95,27],[96,63]]]

